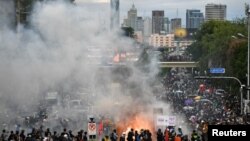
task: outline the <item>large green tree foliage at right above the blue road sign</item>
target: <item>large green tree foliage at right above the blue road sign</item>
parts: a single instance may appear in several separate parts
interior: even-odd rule
[[[200,62],[201,71],[224,67],[226,76],[234,76],[244,82],[247,66],[247,40],[234,39],[238,33],[247,35],[244,19],[205,22],[195,36],[195,43],[188,52]]]

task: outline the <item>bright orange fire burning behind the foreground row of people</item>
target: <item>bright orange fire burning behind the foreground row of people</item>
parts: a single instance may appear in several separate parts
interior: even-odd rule
[[[125,120],[120,120],[117,122],[117,133],[121,135],[122,132],[126,134],[133,128],[134,131],[138,131],[140,133],[141,129],[148,129],[151,132],[154,130],[153,119],[150,116],[146,116],[143,114],[137,114],[134,116],[130,116]]]

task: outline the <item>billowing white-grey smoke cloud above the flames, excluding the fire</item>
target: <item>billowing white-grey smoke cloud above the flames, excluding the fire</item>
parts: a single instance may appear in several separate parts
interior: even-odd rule
[[[13,4],[10,6],[13,8]],[[128,113],[152,116],[153,107],[158,105],[154,86],[160,85],[157,59],[147,66],[147,73],[133,64],[117,70],[93,65],[102,62],[103,56],[112,60],[117,49],[136,50],[132,40],[120,36],[121,31],[110,31],[109,5],[93,9],[84,4],[38,2],[30,28],[19,25],[16,31],[5,26],[11,21],[8,13],[3,14],[0,28],[1,111],[10,109],[9,115],[17,116],[23,107],[34,110],[48,90],[72,95],[87,88],[89,94],[80,96],[93,105],[88,115],[110,114],[116,121]],[[98,50],[95,56],[102,57],[90,59],[93,49]],[[63,115],[74,116],[70,111]]]

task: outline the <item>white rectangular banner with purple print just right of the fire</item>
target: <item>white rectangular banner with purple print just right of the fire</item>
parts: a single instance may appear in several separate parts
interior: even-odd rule
[[[157,126],[175,126],[175,122],[176,122],[175,116],[167,116],[167,115],[156,116]]]

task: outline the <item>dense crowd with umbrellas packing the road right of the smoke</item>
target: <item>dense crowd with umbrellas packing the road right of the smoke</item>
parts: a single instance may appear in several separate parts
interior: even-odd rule
[[[207,141],[209,125],[249,124],[240,114],[239,96],[226,91],[217,94],[216,86],[196,80],[193,75],[186,70],[173,70],[163,80],[163,99],[171,103],[173,112],[185,115],[189,128],[200,140]],[[204,89],[200,89],[201,84]]]

